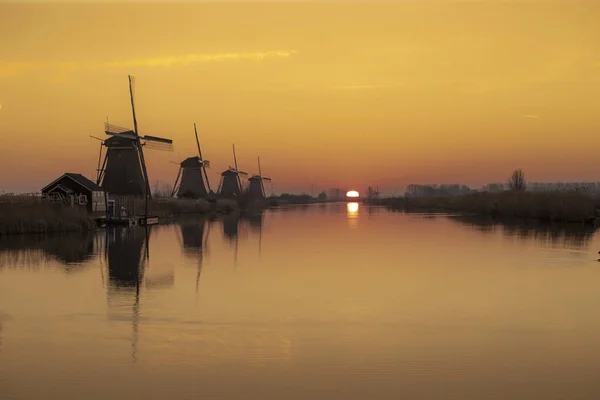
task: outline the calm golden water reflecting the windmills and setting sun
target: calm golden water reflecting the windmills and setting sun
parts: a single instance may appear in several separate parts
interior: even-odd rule
[[[2,240],[0,398],[598,399],[598,250],[346,204]]]

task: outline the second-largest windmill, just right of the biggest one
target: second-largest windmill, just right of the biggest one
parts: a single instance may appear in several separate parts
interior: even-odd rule
[[[210,192],[210,183],[206,174],[206,168],[210,168],[210,161],[202,159],[196,123],[194,123],[194,133],[196,134],[198,155],[188,157],[180,163],[171,197],[177,195],[179,198],[197,199],[199,197],[206,197]],[[206,186],[204,185],[205,182]]]

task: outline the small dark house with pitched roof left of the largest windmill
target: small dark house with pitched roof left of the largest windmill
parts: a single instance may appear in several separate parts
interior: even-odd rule
[[[42,189],[42,197],[49,201],[86,207],[97,216],[106,215],[104,190],[81,174],[67,172]]]

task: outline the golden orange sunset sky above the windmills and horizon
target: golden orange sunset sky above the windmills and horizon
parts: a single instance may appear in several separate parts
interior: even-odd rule
[[[0,2],[0,189],[93,178],[103,123],[132,126],[150,180],[195,154],[281,191],[600,180],[600,4]]]

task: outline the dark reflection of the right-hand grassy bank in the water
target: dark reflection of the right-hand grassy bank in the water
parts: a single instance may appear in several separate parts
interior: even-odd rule
[[[555,246],[585,247],[593,239],[597,228],[579,224],[542,224],[521,221],[496,221],[477,216],[449,216],[450,220],[466,224],[478,232],[489,234],[500,232],[508,239],[535,240]]]

